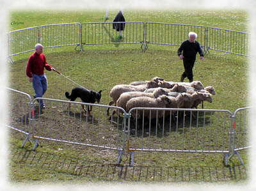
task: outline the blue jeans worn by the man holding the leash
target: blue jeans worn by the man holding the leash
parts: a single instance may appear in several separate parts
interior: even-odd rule
[[[45,91],[47,90],[47,77],[44,74],[36,75],[32,73],[33,77],[33,88],[35,90],[35,98],[42,98]],[[43,100],[40,100],[40,107],[44,106]]]

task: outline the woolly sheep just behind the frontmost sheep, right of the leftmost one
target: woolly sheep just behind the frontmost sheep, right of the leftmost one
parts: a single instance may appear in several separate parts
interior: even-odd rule
[[[166,91],[164,91],[163,88],[157,88],[154,90],[153,93],[145,93],[141,91],[131,91],[131,92],[125,92],[120,95],[118,100],[116,101],[116,106],[117,107],[122,107],[126,112],[126,103],[131,99],[135,97],[140,97],[140,96],[147,96],[150,98],[158,98],[161,95],[168,95]]]

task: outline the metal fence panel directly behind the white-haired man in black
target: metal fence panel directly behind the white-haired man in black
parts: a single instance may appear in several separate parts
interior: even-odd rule
[[[145,49],[148,44],[179,46],[184,40],[188,40],[188,33],[193,31],[198,34],[196,40],[205,50],[205,27],[187,24],[168,24],[159,22],[147,22],[145,24]]]

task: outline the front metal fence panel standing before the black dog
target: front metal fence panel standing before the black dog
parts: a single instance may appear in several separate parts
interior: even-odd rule
[[[108,106],[47,98],[36,98],[34,103],[38,100],[43,100],[46,106],[45,109],[35,106],[35,139],[120,151],[123,149],[123,118],[117,118],[115,123],[109,121]],[[86,108],[93,105],[92,117],[84,112],[81,105]],[[118,114],[124,112],[117,107],[110,109],[117,109]]]

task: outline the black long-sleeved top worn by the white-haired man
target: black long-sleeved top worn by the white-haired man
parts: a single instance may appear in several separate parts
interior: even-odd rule
[[[193,43],[189,42],[189,40],[185,40],[178,49],[178,56],[182,54],[186,59],[196,59],[197,52],[200,56],[204,56],[204,52],[196,40]]]

